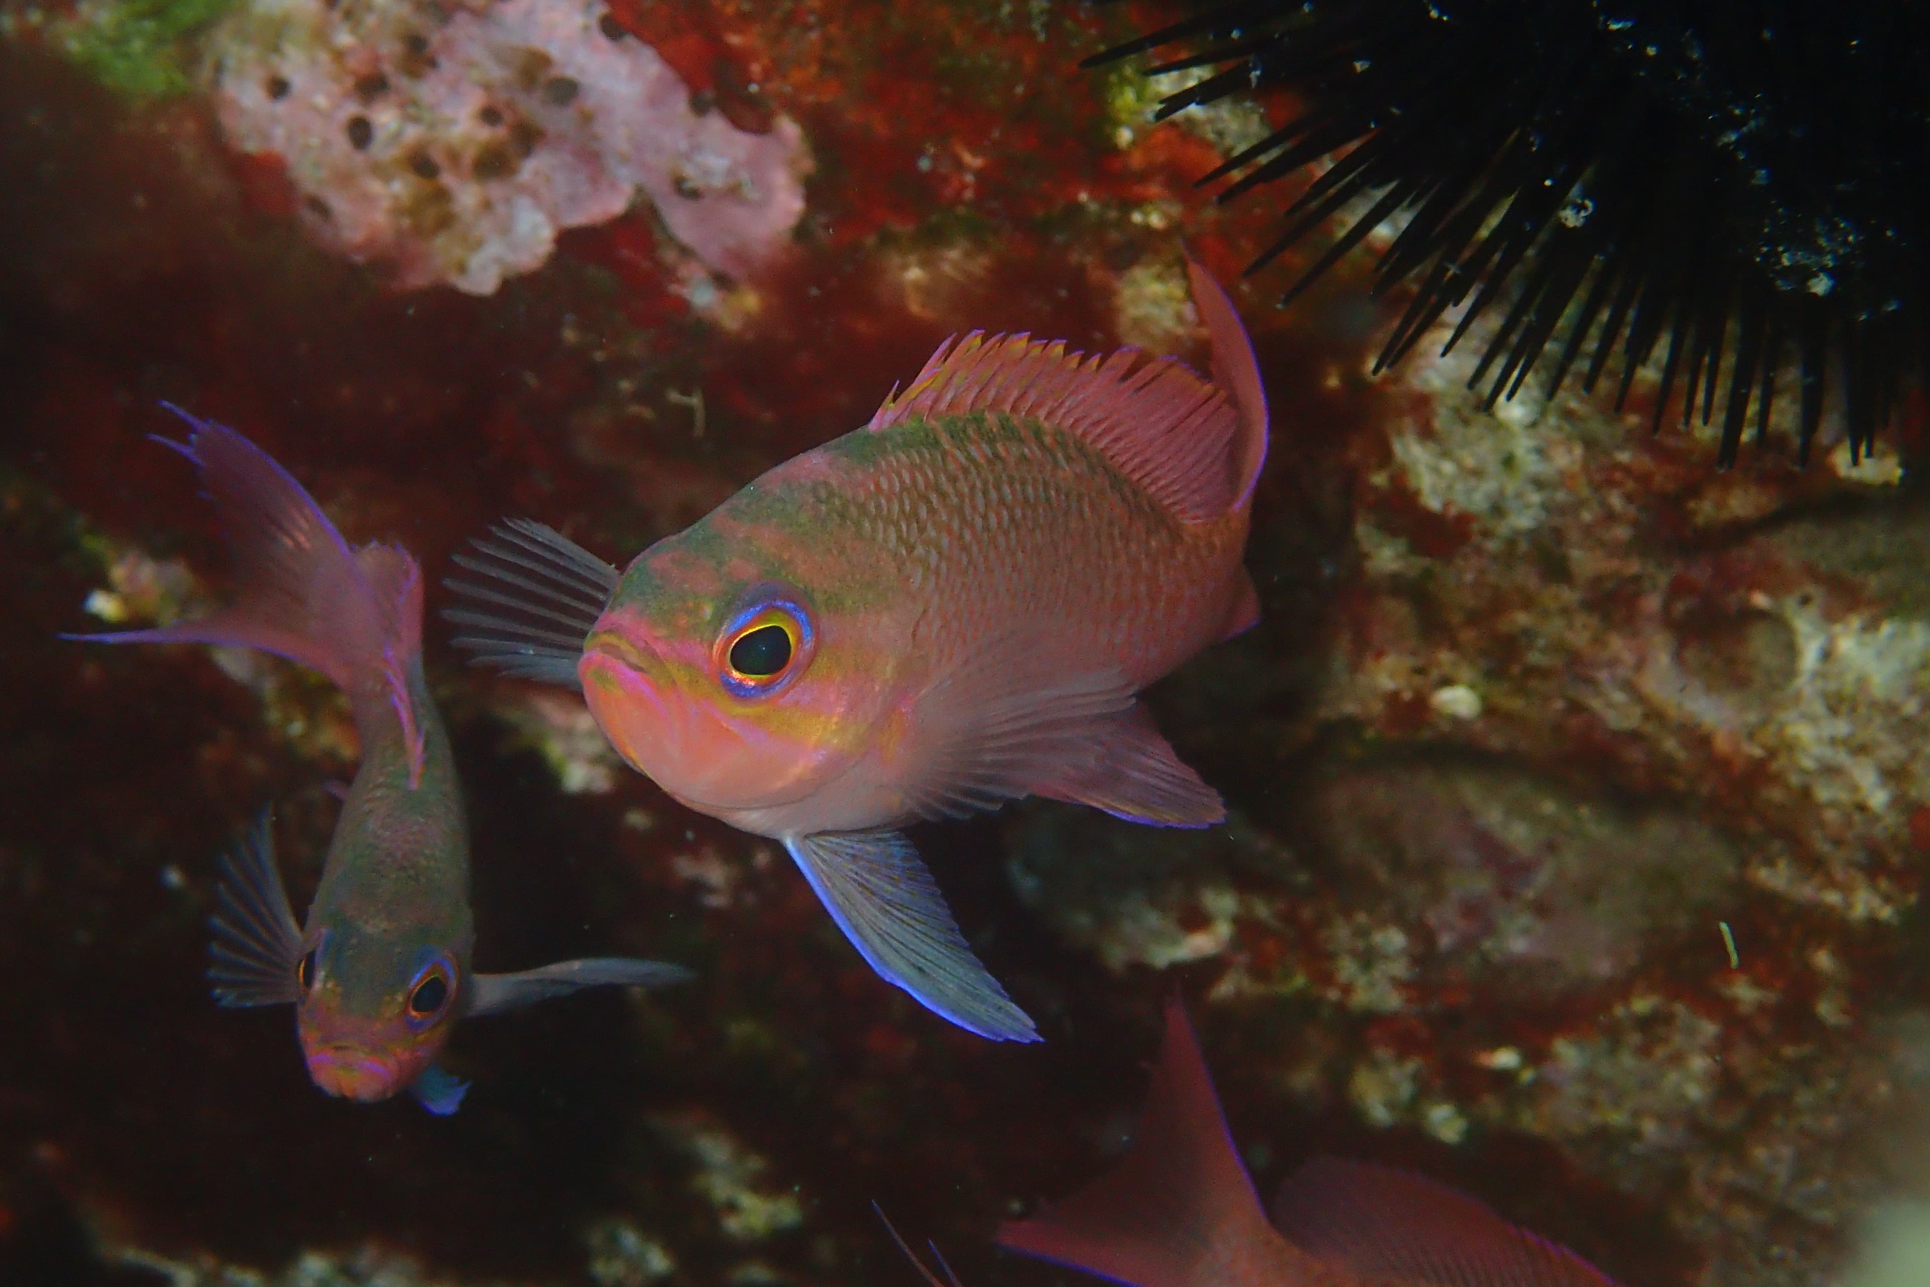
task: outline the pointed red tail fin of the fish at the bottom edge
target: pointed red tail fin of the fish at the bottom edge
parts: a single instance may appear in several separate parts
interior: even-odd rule
[[[1137,1287],[1235,1287],[1291,1252],[1266,1223],[1233,1152],[1185,1007],[1166,1007],[1166,1048],[1133,1146],[1112,1171],[998,1241]]]

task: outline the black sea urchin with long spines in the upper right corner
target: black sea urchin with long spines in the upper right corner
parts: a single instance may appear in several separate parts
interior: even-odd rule
[[[1229,158],[1241,193],[1339,154],[1287,210],[1260,268],[1359,197],[1372,205],[1287,291],[1374,226],[1407,224],[1376,291],[1417,280],[1376,370],[1448,309],[1449,347],[1507,313],[1471,386],[1513,396],[1556,334],[1554,390],[1588,347],[1621,386],[1666,340],[1656,426],[1723,396],[1735,459],[1774,374],[1801,372],[1801,453],[1841,397],[1870,446],[1924,365],[1930,243],[1930,6],[1911,0],[1233,0],[1089,58],[1191,42],[1150,73],[1214,68],[1160,116],[1262,85],[1307,112]],[[1285,299],[1282,303],[1285,303]],[[1727,367],[1727,370],[1723,369]]]

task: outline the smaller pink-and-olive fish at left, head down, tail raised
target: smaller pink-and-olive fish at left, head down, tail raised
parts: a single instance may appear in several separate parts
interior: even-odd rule
[[[469,828],[455,758],[423,681],[423,575],[407,550],[349,550],[301,484],[261,448],[170,407],[193,426],[160,440],[201,469],[228,527],[239,598],[197,621],[95,643],[261,648],[328,675],[349,697],[361,766],[322,882],[295,922],[262,816],[222,864],[208,978],[222,1005],[295,1005],[309,1077],[328,1094],[407,1088],[454,1113],[467,1084],[436,1065],[463,1017],[600,984],[662,986],[679,965],[593,957],[517,974],[469,969]]]

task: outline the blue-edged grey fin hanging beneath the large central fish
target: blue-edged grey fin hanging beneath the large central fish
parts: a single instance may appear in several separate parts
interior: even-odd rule
[[[973,955],[911,841],[897,832],[822,832],[784,845],[880,978],[979,1036],[1038,1040],[1033,1021]]]

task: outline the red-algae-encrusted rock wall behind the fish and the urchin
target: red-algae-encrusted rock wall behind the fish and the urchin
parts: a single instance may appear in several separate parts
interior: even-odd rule
[[[882,1194],[963,1281],[1048,1283],[986,1235],[1117,1142],[1183,986],[1262,1189],[1376,1158],[1619,1281],[1849,1281],[1930,1086],[1930,509],[1828,432],[1806,471],[1772,424],[1716,475],[1675,405],[1650,436],[1652,376],[1627,415],[1532,384],[1486,409],[1473,353],[1420,361],[1440,336],[1368,376],[1405,301],[1353,262],[1266,307],[1318,245],[1241,284],[1270,206],[1193,187],[1282,118],[1154,123],[1133,77],[1075,71],[1179,8],[282,0],[197,37],[210,95],[139,112],[0,44],[0,156],[33,176],[0,212],[25,318],[0,714],[29,801],[0,808],[0,967],[46,980],[0,996],[17,1229],[52,1183],[205,1275],[392,1245],[398,1281],[803,1285],[909,1275]],[[1262,621],[1148,698],[1233,822],[1023,807],[917,837],[1046,1046],[924,1021],[780,849],[436,623],[486,969],[598,944],[699,982],[477,1025],[446,1123],[330,1104],[282,1025],[210,1007],[214,855],[274,801],[307,893],[351,764],[282,671],[54,639],[91,596],[162,612],[174,569],[228,589],[189,471],[141,444],[174,430],[158,399],[255,436],[351,540],[407,544],[434,612],[486,523],[621,560],[863,424],[953,332],[1199,359],[1181,239],[1274,405]],[[8,1254],[0,1229],[0,1279]]]

